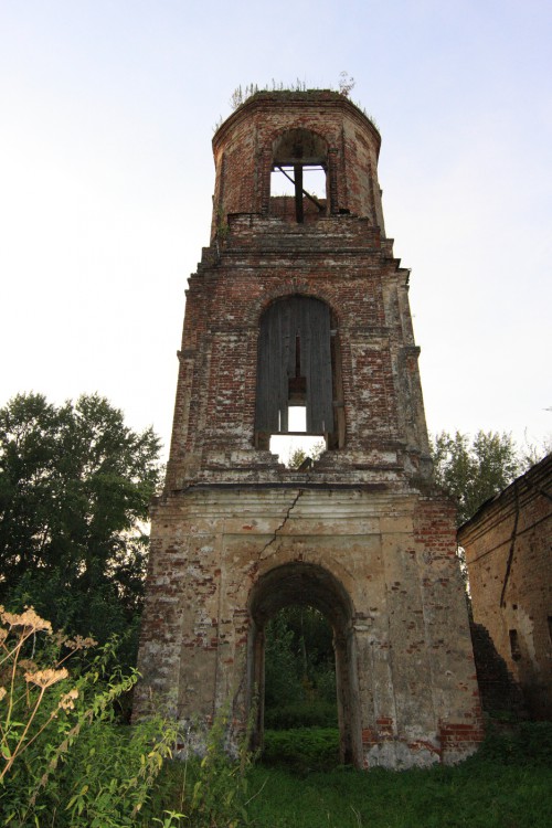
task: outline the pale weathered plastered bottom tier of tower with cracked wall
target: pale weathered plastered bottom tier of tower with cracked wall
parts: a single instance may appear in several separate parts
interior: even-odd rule
[[[189,488],[155,508],[136,715],[181,720],[258,698],[264,625],[317,607],[333,629],[343,762],[446,764],[482,737],[454,509],[369,485]]]

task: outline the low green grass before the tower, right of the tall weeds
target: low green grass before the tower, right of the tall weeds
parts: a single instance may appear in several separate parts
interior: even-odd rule
[[[529,725],[529,729],[534,725]],[[551,725],[546,725],[550,731]],[[339,767],[256,766],[262,795],[247,810],[259,828],[548,828],[550,755],[505,761],[481,754],[456,767],[368,773]]]

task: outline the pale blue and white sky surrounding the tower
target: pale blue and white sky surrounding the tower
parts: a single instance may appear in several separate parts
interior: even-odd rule
[[[167,442],[213,126],[337,87],[382,134],[431,431],[552,432],[552,3],[0,0],[0,404],[98,391]]]

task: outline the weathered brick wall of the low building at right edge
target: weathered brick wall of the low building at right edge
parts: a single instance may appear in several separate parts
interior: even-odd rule
[[[552,455],[460,527],[474,620],[489,633],[529,713],[552,718]]]

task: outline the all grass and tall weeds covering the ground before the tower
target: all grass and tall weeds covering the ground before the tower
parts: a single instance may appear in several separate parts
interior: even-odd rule
[[[551,723],[491,725],[457,767],[363,773],[338,766],[335,728],[267,732],[264,763],[253,765],[245,741],[232,761],[222,712],[203,756],[173,761],[185,736],[170,718],[118,723],[115,702],[136,675],[108,669],[113,647],[92,655],[92,641],[54,636],[32,609],[0,619],[3,825],[548,828]],[[73,669],[75,650],[88,656]]]

